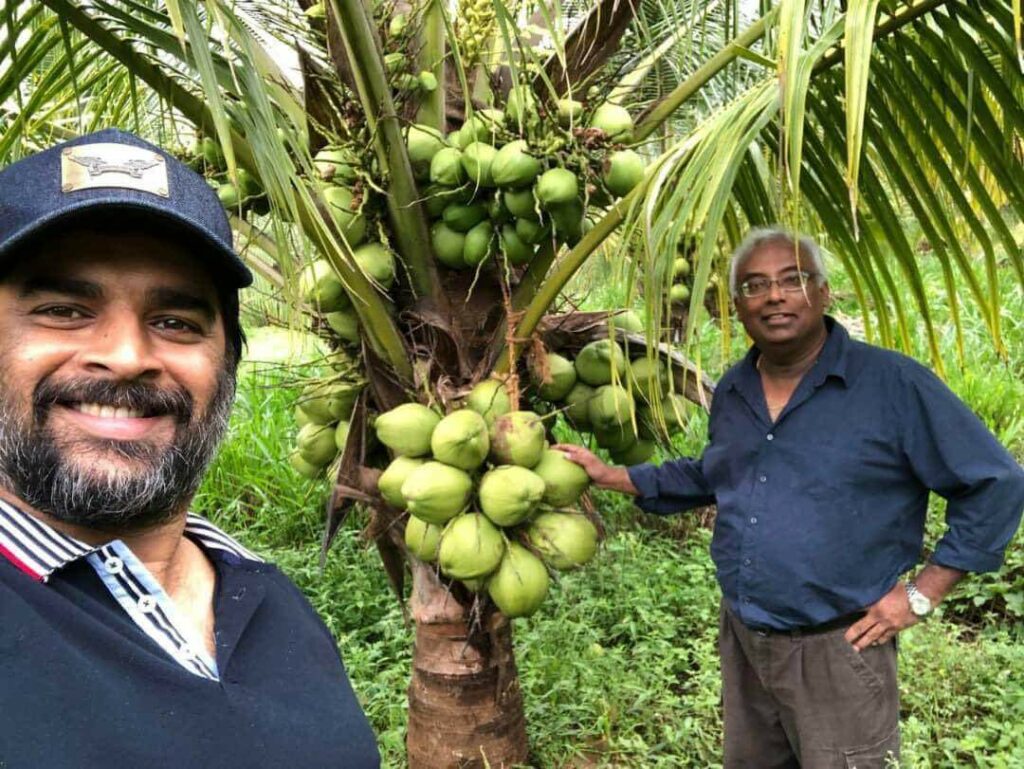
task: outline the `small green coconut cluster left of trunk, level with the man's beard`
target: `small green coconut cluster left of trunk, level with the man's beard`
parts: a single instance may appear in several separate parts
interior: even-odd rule
[[[311,382],[295,404],[298,433],[289,463],[297,473],[315,478],[345,448],[349,420],[364,383],[343,377]]]

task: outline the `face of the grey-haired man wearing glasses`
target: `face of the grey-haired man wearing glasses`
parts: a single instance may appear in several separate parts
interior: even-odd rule
[[[794,247],[785,243],[766,243],[743,264],[736,275],[736,286],[745,281],[770,281],[767,293],[756,297],[736,297],[736,313],[751,335],[764,349],[766,346],[799,346],[817,337],[822,316],[828,305],[827,284],[818,285],[811,276],[798,291],[784,291],[778,281],[799,271],[813,272],[806,258],[798,263]]]

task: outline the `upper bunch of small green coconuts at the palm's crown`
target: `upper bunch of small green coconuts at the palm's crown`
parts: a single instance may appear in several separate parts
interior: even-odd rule
[[[581,102],[559,102],[561,125],[550,131],[540,116],[532,92],[519,88],[505,110],[479,110],[446,136],[424,125],[408,129],[431,243],[444,266],[476,269],[499,254],[520,266],[544,242],[574,245],[588,228],[589,206],[640,183],[643,160],[623,146],[633,131],[625,109],[602,104],[575,131],[568,129],[583,121]]]

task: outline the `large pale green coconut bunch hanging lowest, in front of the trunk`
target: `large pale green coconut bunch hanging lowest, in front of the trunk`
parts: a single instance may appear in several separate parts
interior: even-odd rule
[[[597,528],[573,509],[590,478],[548,447],[541,418],[514,411],[500,382],[481,382],[443,417],[403,403],[375,429],[394,455],[378,489],[409,512],[409,551],[506,615],[532,614],[549,569],[579,568],[597,551]]]

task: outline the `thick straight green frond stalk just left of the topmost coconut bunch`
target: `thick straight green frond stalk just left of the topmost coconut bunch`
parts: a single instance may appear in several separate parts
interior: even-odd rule
[[[427,218],[420,205],[401,123],[391,98],[373,16],[362,0],[331,0],[331,8],[374,137],[374,151],[381,167],[388,169],[388,216],[396,250],[409,270],[414,293],[438,309],[443,308],[447,302],[440,289]]]

